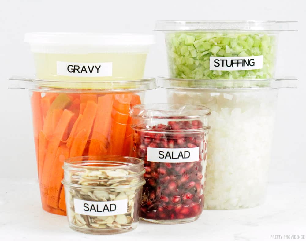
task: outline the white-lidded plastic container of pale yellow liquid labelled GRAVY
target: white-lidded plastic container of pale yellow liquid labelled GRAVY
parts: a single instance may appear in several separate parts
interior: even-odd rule
[[[153,35],[28,33],[38,79],[142,79]]]

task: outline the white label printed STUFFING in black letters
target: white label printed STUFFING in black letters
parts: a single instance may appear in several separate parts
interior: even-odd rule
[[[263,68],[263,55],[248,57],[209,57],[210,70],[251,70]]]

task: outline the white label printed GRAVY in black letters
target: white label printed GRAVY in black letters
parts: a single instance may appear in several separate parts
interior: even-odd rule
[[[56,62],[58,75],[75,77],[103,77],[113,75],[113,63],[71,63]]]

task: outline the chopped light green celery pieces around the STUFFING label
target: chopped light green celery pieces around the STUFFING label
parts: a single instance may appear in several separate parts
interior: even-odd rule
[[[276,37],[263,33],[171,32],[166,34],[170,75],[183,79],[274,78]],[[263,68],[210,70],[209,58],[263,55]]]

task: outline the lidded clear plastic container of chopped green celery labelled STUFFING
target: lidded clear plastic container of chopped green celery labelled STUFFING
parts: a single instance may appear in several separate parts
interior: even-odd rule
[[[295,21],[157,21],[165,33],[169,74],[183,79],[275,78],[280,31]]]

